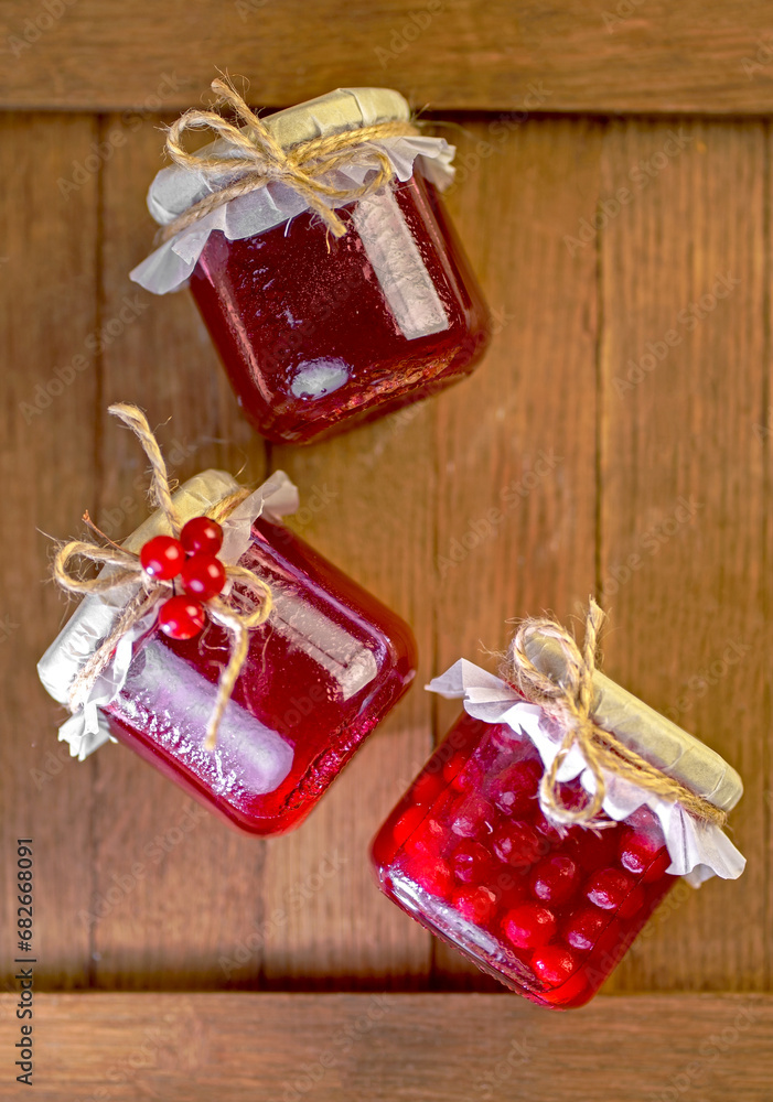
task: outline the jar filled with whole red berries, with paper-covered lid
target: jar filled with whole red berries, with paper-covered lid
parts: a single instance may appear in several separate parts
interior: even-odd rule
[[[582,1006],[679,875],[697,886],[742,872],[718,827],[632,785],[612,781],[603,818],[588,827],[555,821],[539,792],[543,755],[551,760],[560,736],[540,709],[466,661],[429,688],[463,698],[465,712],[377,833],[377,880],[512,991]],[[603,727],[716,807],[737,803],[741,780],[719,755],[599,672],[593,688]],[[562,770],[561,800],[579,807],[583,764]]]

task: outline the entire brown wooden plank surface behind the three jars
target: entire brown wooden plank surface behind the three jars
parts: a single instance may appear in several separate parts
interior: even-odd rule
[[[0,861],[10,886],[34,838],[39,1096],[769,1099],[771,6],[0,0]],[[454,123],[448,202],[494,316],[472,379],[308,450],[249,430],[187,293],[127,276],[158,128],[216,66],[257,105],[382,84]],[[288,471],[293,527],[414,625],[419,683],[600,594],[606,672],[744,778],[742,879],[677,888],[592,1007],[549,1015],[371,882],[454,705],[415,689],[268,842],[120,746],[71,761],[34,671],[66,615],[47,537],[144,516],[116,400],[181,479]],[[10,887],[1,914],[12,992]]]

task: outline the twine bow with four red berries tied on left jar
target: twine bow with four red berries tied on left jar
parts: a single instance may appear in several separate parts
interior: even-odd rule
[[[54,557],[54,581],[69,593],[118,594],[127,585],[133,591],[121,609],[112,630],[78,671],[69,690],[69,706],[77,711],[88,700],[88,694],[99,674],[109,666],[118,642],[152,612],[157,613],[160,629],[170,639],[193,639],[203,629],[207,616],[224,628],[230,637],[230,657],[217,684],[217,696],[206,728],[204,746],[213,749],[226,704],[241,672],[249,648],[249,631],[264,624],[271,612],[269,585],[246,566],[225,563],[218,558],[223,545],[223,528],[216,517],[225,519],[248,496],[240,487],[235,494],[217,503],[210,510],[214,516],[198,516],[183,523],[150,425],[136,406],[118,403],[109,412],[120,418],[139,437],[151,465],[150,494],[164,517],[170,536],[154,536],[141,548],[140,553],[129,551],[108,540],[108,545],[85,540],[71,540]],[[84,519],[99,536],[97,528]],[[84,579],[71,573],[74,560],[85,559],[109,568],[98,577]],[[249,591],[253,607],[245,611],[241,594],[234,597],[233,585],[223,596],[226,582],[237,582],[241,591]],[[178,585],[183,592],[178,592]],[[126,592],[126,590],[125,590]]]

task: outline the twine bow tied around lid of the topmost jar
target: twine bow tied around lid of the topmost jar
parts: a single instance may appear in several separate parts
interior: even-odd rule
[[[250,111],[235,88],[217,77],[212,82],[212,90],[217,96],[217,102],[230,105],[243,126],[234,126],[217,111],[192,108],[169,128],[167,152],[170,158],[175,164],[202,174],[207,184],[216,190],[192,204],[187,210],[165,226],[161,233],[162,241],[169,240],[181,229],[191,226],[224,203],[264,187],[272,180],[286,184],[301,195],[311,209],[322,218],[333,236],[342,237],[346,233],[346,224],[324,202],[324,198],[332,199],[339,206],[345,206],[378,191],[394,177],[395,170],[386,153],[372,145],[367,150],[368,160],[375,160],[378,169],[367,183],[333,187],[332,184],[325,183],[324,177],[336,169],[353,164],[361,155],[365,142],[419,132],[409,122],[378,122],[369,127],[357,127],[355,130],[329,134],[325,138],[312,138],[284,150],[265,122]],[[189,153],[182,144],[185,130],[212,130],[226,142],[235,155],[226,156],[211,152],[200,156]],[[238,173],[239,179],[224,186],[222,176],[234,173]]]

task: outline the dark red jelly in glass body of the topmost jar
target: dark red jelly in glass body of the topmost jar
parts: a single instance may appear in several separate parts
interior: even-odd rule
[[[211,235],[191,292],[245,413],[308,443],[469,375],[489,339],[481,291],[419,173],[339,210],[254,237]]]

